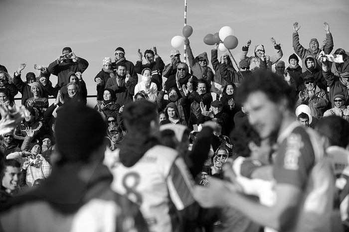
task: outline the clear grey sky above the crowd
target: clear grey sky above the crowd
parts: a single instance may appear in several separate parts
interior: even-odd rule
[[[184,0],[0,0],[0,64],[11,75],[20,63],[27,64],[24,74],[34,72],[34,64],[48,65],[63,47],[70,46],[90,63],[83,78],[88,94],[95,95],[94,77],[102,68],[103,58],[114,59],[119,46],[134,63],[138,48],[144,53],[156,46],[164,62],[169,63],[171,39],[182,35],[183,10]],[[295,21],[301,25],[303,46],[308,48],[314,37],[321,43],[326,21],[334,49],[349,50],[348,0],[187,0],[193,53],[206,51],[209,58],[213,46],[205,45],[203,37],[230,26],[239,40],[232,50],[237,62],[248,39],[252,40],[249,56],[256,44],[263,44],[266,54],[273,55],[269,38],[274,37],[283,45],[281,60],[288,65]],[[55,76],[50,79],[56,83]]]

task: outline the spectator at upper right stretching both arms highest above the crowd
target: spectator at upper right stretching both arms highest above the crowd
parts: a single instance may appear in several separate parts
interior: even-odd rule
[[[333,37],[330,32],[330,25],[327,22],[324,22],[324,29],[326,32],[326,39],[323,42],[323,47],[320,49],[319,41],[316,38],[312,38],[309,42],[309,48],[303,47],[299,42],[298,30],[301,26],[298,26],[298,22],[293,23],[293,49],[295,53],[302,59],[302,69],[303,72],[306,71],[306,58],[312,56],[315,60],[318,60],[321,50],[324,50],[325,54],[330,54],[333,50]],[[321,65],[318,61],[318,66]]]

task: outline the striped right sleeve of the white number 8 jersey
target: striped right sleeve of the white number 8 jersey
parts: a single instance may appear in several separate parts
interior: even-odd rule
[[[167,178],[167,185],[172,202],[177,210],[183,210],[194,203],[192,186],[189,171],[181,157],[177,157],[170,169]]]

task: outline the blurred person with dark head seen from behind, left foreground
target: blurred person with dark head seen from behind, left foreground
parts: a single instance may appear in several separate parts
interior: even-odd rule
[[[102,164],[106,124],[98,112],[68,104],[56,120],[55,168],[40,186],[1,205],[3,231],[148,232],[138,206],[111,190]]]

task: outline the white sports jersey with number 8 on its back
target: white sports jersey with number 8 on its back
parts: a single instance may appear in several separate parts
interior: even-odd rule
[[[177,211],[194,202],[193,181],[178,152],[157,145],[129,168],[120,162],[119,152],[107,152],[105,158],[114,176],[112,189],[141,206],[151,232],[178,231]]]

